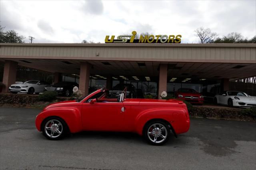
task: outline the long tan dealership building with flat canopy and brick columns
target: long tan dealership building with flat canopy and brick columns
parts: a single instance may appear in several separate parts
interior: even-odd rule
[[[178,88],[229,90],[230,80],[256,76],[256,44],[0,43],[2,92],[16,81],[17,66],[75,81],[84,95],[92,88],[133,84],[141,95]],[[217,92],[215,89],[215,92]]]

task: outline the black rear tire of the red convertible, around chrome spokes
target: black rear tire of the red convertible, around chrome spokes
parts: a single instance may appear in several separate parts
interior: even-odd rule
[[[154,128],[154,125],[156,126],[156,128]],[[162,127],[163,127],[163,130],[159,131]],[[150,132],[150,131],[156,132],[155,129],[158,130],[157,134],[162,135],[165,138],[160,137],[158,135],[154,135],[154,134],[151,134],[151,135],[148,134],[148,132]],[[168,128],[166,123],[164,123],[163,121],[151,121],[145,125],[144,131],[143,131],[143,136],[144,136],[144,139],[146,139],[146,141],[148,141],[148,143],[150,143],[151,145],[160,146],[169,140],[170,129]],[[156,138],[156,142],[153,141],[154,140],[153,138],[154,139]]]

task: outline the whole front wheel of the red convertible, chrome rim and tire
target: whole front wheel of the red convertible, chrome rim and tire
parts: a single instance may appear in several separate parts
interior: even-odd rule
[[[42,132],[47,139],[59,140],[68,133],[68,127],[61,118],[49,117],[42,123]]]

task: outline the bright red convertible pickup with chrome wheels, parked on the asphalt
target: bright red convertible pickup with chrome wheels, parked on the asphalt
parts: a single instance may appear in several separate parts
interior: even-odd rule
[[[50,140],[80,131],[134,132],[152,145],[185,133],[190,126],[186,105],[180,100],[108,98],[100,89],[80,100],[51,104],[36,116],[36,128]]]

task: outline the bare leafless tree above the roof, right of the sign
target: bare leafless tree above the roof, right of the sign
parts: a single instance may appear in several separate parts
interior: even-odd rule
[[[201,43],[212,43],[217,37],[217,33],[212,32],[210,28],[200,27],[195,30],[196,35],[198,35]]]

